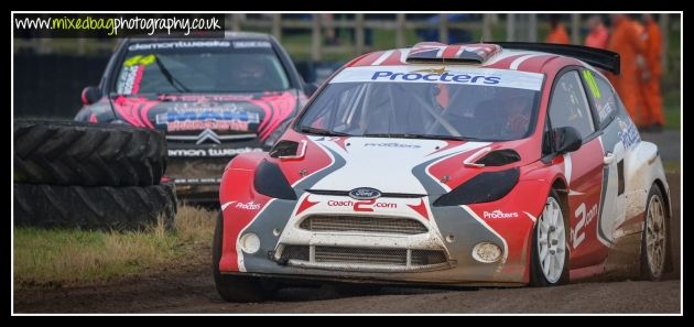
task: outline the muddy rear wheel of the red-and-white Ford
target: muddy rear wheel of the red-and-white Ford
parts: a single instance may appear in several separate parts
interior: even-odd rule
[[[651,186],[646,201],[641,233],[641,277],[660,281],[665,272],[670,252],[670,224],[665,201],[658,185]]]

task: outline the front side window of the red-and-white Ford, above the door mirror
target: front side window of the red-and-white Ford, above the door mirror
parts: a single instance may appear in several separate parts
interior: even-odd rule
[[[577,72],[568,72],[556,81],[550,102],[550,121],[552,128],[575,128],[584,139],[595,131],[588,99]]]

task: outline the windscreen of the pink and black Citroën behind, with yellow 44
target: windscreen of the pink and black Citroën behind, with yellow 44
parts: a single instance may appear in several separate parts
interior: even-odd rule
[[[131,43],[116,92],[257,92],[285,90],[286,73],[268,41]]]

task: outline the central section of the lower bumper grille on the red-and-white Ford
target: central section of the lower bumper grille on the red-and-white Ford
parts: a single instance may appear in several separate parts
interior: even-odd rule
[[[408,250],[316,247],[316,262],[406,265]]]

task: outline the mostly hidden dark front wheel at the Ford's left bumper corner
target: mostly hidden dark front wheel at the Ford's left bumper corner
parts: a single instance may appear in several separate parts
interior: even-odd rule
[[[221,212],[217,217],[215,237],[213,239],[213,275],[217,293],[226,302],[263,302],[274,292],[273,285],[263,283],[259,277],[226,275],[219,272],[219,260],[221,259],[221,237],[224,219]]]

